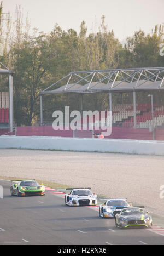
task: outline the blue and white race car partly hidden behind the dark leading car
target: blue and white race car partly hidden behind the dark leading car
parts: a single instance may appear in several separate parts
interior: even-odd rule
[[[99,217],[102,218],[115,218],[115,215],[120,213],[123,208],[132,206],[131,203],[127,203],[126,198],[104,200],[106,200],[106,202],[99,206]]]

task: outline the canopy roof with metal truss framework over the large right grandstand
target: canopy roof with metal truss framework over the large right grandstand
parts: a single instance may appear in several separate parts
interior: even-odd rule
[[[75,71],[40,94],[164,90],[164,67]]]

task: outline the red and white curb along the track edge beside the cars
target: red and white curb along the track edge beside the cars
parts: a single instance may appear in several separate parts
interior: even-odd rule
[[[60,190],[57,189],[51,189],[50,187],[45,187],[45,191],[46,192],[50,192],[56,196],[61,196],[64,197],[66,195],[65,192],[62,192]],[[89,207],[90,209],[93,209],[95,211],[99,211],[99,206],[86,206]],[[153,227],[151,229],[147,229],[148,231],[154,232],[158,235],[164,236],[164,227],[160,227],[157,225],[153,225]]]

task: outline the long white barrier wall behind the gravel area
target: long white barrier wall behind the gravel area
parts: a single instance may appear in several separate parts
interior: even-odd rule
[[[0,136],[0,148],[164,155],[164,141],[152,140]]]

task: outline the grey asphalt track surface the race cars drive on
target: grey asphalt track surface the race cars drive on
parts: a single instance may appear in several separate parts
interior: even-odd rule
[[[91,207],[69,207],[65,198],[10,196],[10,182],[0,180],[0,245],[163,244],[164,236],[148,229],[120,230],[114,219],[99,218]]]

